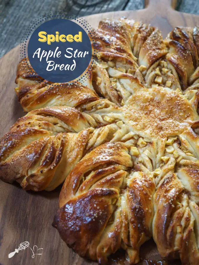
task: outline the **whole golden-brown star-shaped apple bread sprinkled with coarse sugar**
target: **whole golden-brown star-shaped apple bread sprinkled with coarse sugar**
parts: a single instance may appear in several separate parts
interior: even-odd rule
[[[25,190],[64,182],[54,226],[81,257],[129,264],[154,239],[164,259],[199,264],[199,27],[166,39],[105,19],[88,78],[52,84],[21,61],[25,112],[0,141],[0,178]]]

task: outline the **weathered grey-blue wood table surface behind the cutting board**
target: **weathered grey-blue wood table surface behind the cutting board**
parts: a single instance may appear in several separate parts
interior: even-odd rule
[[[0,0],[0,58],[21,42],[32,20],[45,13],[69,12],[88,16],[143,7],[144,0]],[[199,14],[199,0],[178,0],[176,10]]]

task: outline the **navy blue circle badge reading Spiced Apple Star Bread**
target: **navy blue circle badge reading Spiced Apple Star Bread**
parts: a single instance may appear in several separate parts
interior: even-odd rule
[[[81,23],[83,24],[83,23]],[[83,25],[88,31],[86,25]],[[92,47],[87,32],[68,19],[44,22],[32,33],[28,58],[32,68],[50,82],[70,82],[84,73]]]

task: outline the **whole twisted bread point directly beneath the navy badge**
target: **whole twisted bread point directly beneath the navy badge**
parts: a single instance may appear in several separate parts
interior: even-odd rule
[[[91,73],[89,72],[87,76],[88,78],[82,84],[77,80],[73,80],[73,84],[52,83],[42,80],[26,58],[18,64],[15,80],[18,87],[15,91],[26,112],[45,106],[76,107],[99,99],[92,88]]]

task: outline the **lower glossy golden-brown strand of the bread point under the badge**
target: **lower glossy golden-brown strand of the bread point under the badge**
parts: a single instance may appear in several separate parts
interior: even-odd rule
[[[99,99],[88,87],[80,83],[54,83],[18,79],[19,87],[16,93],[23,110],[28,112],[44,106],[71,106],[76,107]],[[56,93],[56,98],[55,98]]]

